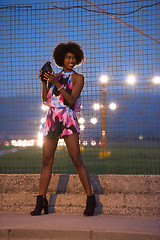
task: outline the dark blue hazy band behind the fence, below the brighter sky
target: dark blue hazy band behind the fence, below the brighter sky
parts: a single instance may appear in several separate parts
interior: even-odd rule
[[[101,96],[99,96],[100,98]],[[34,101],[33,101],[34,99]],[[92,108],[92,96],[82,95],[83,109],[80,116],[85,118],[86,128],[82,133],[83,138],[100,138],[101,136],[101,111]],[[108,100],[107,100],[108,101]],[[107,102],[106,102],[107,103]],[[146,108],[147,104],[147,108]],[[32,95],[0,98],[0,137],[21,136],[22,138],[36,138],[40,119],[45,115],[41,110],[41,97]],[[108,104],[107,104],[108,106]],[[160,96],[143,95],[138,98],[126,96],[120,99],[118,108],[111,111],[107,108],[107,135],[109,138],[121,137],[160,137]],[[89,121],[96,117],[98,123],[92,125]]]

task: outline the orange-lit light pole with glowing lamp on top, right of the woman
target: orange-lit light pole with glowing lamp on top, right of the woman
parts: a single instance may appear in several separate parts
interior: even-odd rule
[[[100,78],[100,82],[102,84],[102,106],[101,106],[101,150],[99,152],[100,158],[106,158],[111,155],[110,152],[107,151],[107,108],[106,108],[106,86],[108,82],[108,76],[103,75]]]

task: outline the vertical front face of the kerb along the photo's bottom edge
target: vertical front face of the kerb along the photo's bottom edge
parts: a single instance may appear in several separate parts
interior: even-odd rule
[[[146,234],[146,233],[122,233],[122,232],[108,232],[108,231],[80,231],[80,230],[6,230],[7,237],[2,236],[0,230],[1,240],[159,240],[160,234]]]

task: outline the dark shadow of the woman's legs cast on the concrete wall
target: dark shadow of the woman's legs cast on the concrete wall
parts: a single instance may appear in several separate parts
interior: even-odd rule
[[[58,194],[66,193],[69,177],[70,177],[69,174],[62,174],[59,176],[57,191],[55,194],[51,194],[49,198],[49,213],[55,213],[55,204],[57,196]],[[103,189],[99,181],[98,175],[90,175],[90,181],[96,197],[96,209],[94,215],[100,215],[103,212],[103,205],[99,200],[99,195],[103,194]]]

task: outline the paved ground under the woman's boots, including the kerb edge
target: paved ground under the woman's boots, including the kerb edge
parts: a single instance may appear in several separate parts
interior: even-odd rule
[[[0,239],[160,240],[160,218],[0,213]]]

